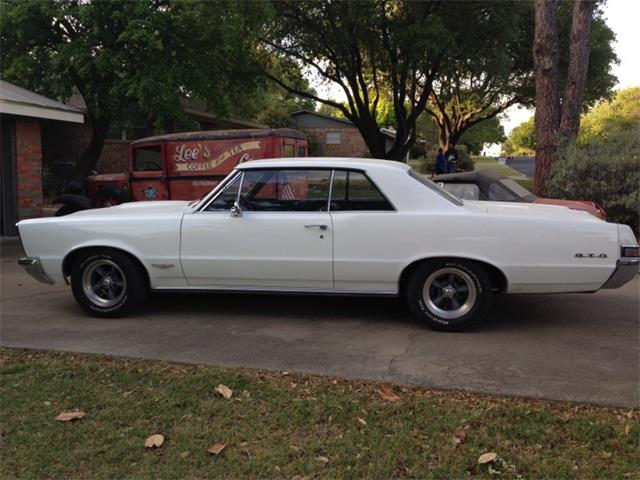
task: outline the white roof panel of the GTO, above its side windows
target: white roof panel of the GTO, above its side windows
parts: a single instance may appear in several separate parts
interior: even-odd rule
[[[265,160],[251,160],[238,165],[237,168],[248,170],[255,168],[347,168],[356,170],[392,169],[407,171],[411,167],[406,163],[375,158],[347,157],[291,157]]]

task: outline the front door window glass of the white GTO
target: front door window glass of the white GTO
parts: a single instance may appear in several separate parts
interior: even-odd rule
[[[241,205],[256,212],[326,212],[330,170],[247,170]]]

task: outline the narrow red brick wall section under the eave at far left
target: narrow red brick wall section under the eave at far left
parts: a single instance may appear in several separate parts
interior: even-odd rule
[[[16,191],[18,218],[42,215],[42,143],[36,118],[16,117]]]

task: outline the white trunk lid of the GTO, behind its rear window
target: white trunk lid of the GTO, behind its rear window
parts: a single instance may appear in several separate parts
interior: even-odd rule
[[[486,202],[477,200],[465,200],[464,204],[471,208],[480,209],[491,215],[498,216],[516,215],[519,217],[541,218],[547,220],[557,219],[584,222],[601,221],[584,210],[573,210],[560,205],[524,202]]]

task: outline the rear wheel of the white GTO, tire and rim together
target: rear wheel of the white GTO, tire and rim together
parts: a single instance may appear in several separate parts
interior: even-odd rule
[[[414,316],[433,330],[458,332],[484,318],[491,306],[491,281],[468,260],[430,260],[409,279],[407,301]]]

